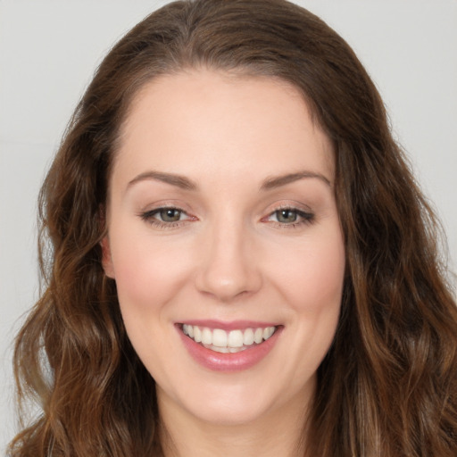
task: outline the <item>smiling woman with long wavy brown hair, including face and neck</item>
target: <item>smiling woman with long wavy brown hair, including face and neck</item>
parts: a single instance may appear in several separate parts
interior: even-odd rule
[[[341,37],[279,0],[168,4],[107,55],[41,193],[10,454],[451,456],[457,312]]]

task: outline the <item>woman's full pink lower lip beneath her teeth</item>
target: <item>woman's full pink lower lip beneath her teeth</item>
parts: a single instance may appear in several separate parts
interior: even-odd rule
[[[242,371],[253,367],[270,353],[282,330],[282,327],[279,327],[269,339],[260,345],[252,345],[239,353],[216,353],[195,343],[192,338],[184,335],[181,328],[177,328],[182,342],[192,358],[204,368],[212,371]]]

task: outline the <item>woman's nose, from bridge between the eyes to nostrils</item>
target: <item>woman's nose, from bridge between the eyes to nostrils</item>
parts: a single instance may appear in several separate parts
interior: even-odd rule
[[[204,234],[199,248],[197,289],[228,303],[252,295],[262,287],[262,274],[242,223],[219,223]]]

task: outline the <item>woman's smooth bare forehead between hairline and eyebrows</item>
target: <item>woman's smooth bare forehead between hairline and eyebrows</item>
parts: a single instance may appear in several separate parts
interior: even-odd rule
[[[114,161],[114,172],[152,168],[196,178],[204,170],[229,176],[303,167],[334,175],[330,141],[299,90],[281,79],[208,70],[145,84],[130,105]]]

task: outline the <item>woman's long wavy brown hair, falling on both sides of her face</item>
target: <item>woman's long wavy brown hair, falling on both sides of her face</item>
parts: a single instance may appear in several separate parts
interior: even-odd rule
[[[160,74],[209,67],[285,79],[335,146],[347,256],[335,341],[318,372],[310,455],[451,457],[457,308],[433,212],[352,49],[283,0],[168,4],[112,48],[40,194],[44,292],[16,342],[20,400],[41,415],[11,456],[160,455],[154,379],[129,344],[100,241],[120,125]]]

